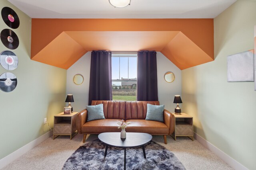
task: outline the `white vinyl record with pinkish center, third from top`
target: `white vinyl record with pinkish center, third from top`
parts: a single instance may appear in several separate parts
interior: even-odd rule
[[[0,53],[0,64],[6,70],[14,70],[18,66],[18,57],[12,51]]]

